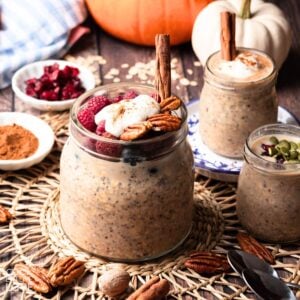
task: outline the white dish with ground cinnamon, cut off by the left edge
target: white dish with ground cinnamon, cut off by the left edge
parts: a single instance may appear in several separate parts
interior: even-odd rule
[[[19,170],[41,162],[51,151],[54,133],[38,117],[0,113],[0,169]]]

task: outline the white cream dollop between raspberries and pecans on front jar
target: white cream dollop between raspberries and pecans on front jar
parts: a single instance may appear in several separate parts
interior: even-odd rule
[[[148,95],[139,95],[131,100],[105,106],[95,115],[95,123],[105,120],[105,130],[119,137],[126,127],[145,121],[159,113],[159,103]]]

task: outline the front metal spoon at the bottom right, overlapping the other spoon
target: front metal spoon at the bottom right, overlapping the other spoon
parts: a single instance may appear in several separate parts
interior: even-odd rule
[[[296,300],[288,286],[279,278],[257,270],[244,269],[243,279],[263,300]]]

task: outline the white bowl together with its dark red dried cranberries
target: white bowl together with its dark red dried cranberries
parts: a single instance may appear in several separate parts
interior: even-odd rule
[[[95,87],[93,73],[64,60],[44,60],[19,69],[12,89],[26,104],[42,111],[69,109],[84,92]]]

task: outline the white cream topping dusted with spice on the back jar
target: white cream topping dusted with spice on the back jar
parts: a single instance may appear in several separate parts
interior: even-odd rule
[[[240,53],[232,61],[221,61],[218,72],[233,78],[247,78],[257,73],[263,66],[255,54]]]

